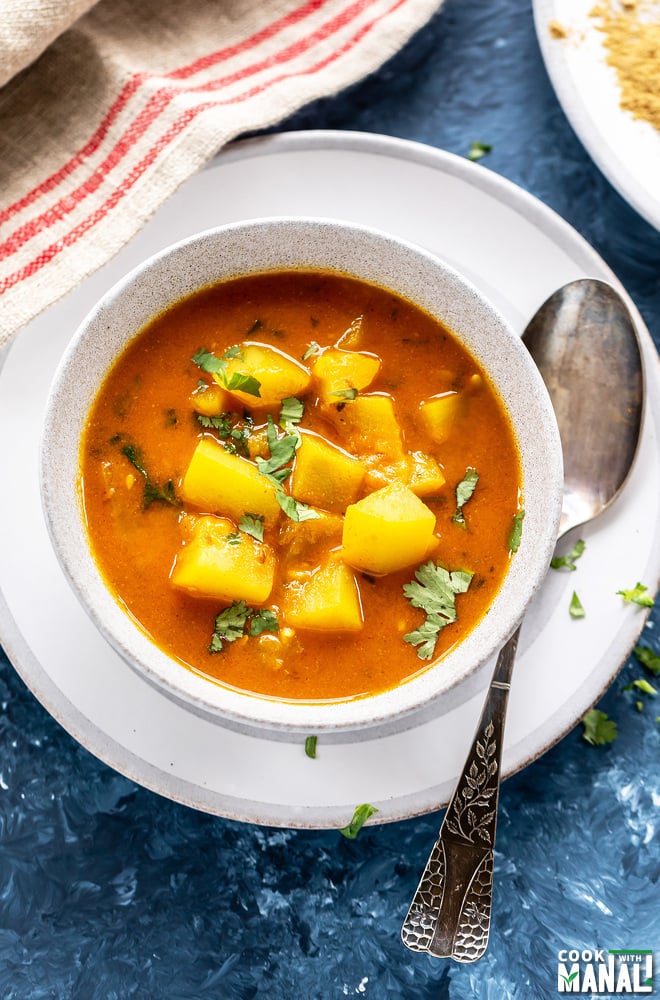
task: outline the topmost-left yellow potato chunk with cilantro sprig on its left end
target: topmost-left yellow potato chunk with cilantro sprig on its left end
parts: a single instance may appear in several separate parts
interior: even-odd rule
[[[259,396],[239,389],[230,389],[231,395],[250,409],[272,409],[288,396],[307,392],[311,375],[304,365],[266,344],[243,344],[241,354],[227,362],[224,372],[214,375],[219,385],[225,379],[231,383],[232,375],[252,375],[260,383]]]

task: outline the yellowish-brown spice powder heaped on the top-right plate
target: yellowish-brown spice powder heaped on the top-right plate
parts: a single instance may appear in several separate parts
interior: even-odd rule
[[[660,130],[660,4],[605,0],[591,11],[616,70],[621,107]]]

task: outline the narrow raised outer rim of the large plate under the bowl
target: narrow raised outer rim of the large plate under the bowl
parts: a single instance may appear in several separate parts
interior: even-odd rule
[[[523,215],[527,222],[530,222],[537,228],[541,228],[544,234],[553,239],[567,253],[573,253],[577,246],[581,253],[592,261],[593,266],[598,270],[599,274],[606,276],[607,280],[611,280],[622,291],[636,317],[640,340],[643,347],[645,347],[645,365],[648,367],[652,365],[654,378],[656,380],[660,379],[660,362],[658,361],[655,345],[650,333],[625,288],[623,288],[608,265],[600,258],[593,247],[554,212],[553,209],[524,189],[518,187],[512,181],[499,174],[495,174],[482,165],[472,164],[455,154],[414,140],[398,139],[357,131],[311,130],[282,132],[240,140],[221,151],[205,169],[209,170],[221,167],[222,163],[226,160],[231,162],[246,156],[258,156],[262,153],[271,155],[279,152],[290,153],[297,149],[309,150],[310,148],[315,150],[353,150],[359,153],[366,151],[406,161],[412,159],[417,162],[426,163],[441,173],[445,171],[454,175],[460,174],[463,178],[465,178],[467,173],[471,183],[481,189],[485,189],[489,195],[495,196],[498,200],[505,202],[509,208]],[[524,212],[521,211],[521,206],[524,207]],[[568,248],[567,244],[569,245]],[[4,362],[6,355],[7,352],[4,352],[0,356],[0,364]],[[657,422],[657,412],[655,422]],[[657,540],[655,549],[660,549],[660,542]],[[660,555],[660,552],[656,554]],[[601,685],[598,690],[595,693],[594,691],[590,691],[589,698],[591,704],[594,704],[611,685],[632,646],[635,644],[646,618],[646,614],[636,616],[635,627],[626,632],[625,641],[620,641],[615,664],[608,671],[604,682],[601,678]],[[619,637],[620,633],[621,630],[618,633]],[[62,694],[37,661],[36,656],[30,650],[27,641],[20,634],[18,627],[11,617],[1,587],[0,642],[4,647],[7,657],[19,676],[26,683],[26,686],[46,710],[62,725],[65,731],[98,759],[137,784],[184,805],[228,819],[260,825],[301,829],[327,829],[336,828],[340,825],[337,821],[337,806],[312,806],[304,813],[300,810],[296,813],[295,807],[290,805],[282,806],[281,804],[270,802],[253,803],[242,798],[233,797],[224,792],[214,791],[213,793],[208,793],[200,785],[195,785],[193,782],[179,778],[176,775],[167,774],[160,767],[145,761],[144,758],[139,757],[132,750],[120,745],[114,738],[109,738],[95,723],[84,716],[81,710],[67,696]],[[40,678],[40,684],[35,683],[35,677]],[[503,776],[508,777],[532,763],[532,761],[559,742],[577,724],[577,721],[577,719],[572,718],[571,721],[561,728],[561,731],[555,731],[550,740],[544,739],[542,745],[534,753],[523,756],[513,766],[506,766],[505,748]],[[93,737],[91,739],[90,734]],[[384,808],[380,814],[372,818],[371,822],[395,822],[427,814],[441,808],[446,804],[448,796],[444,796],[442,800],[439,800],[435,794],[438,787],[436,785],[426,788],[422,792],[412,792],[408,795],[397,796],[396,803],[398,807],[394,808],[392,801],[388,801],[384,806],[388,806],[389,808],[387,810]],[[254,808],[249,808],[255,805],[258,805],[259,815],[255,815]]]

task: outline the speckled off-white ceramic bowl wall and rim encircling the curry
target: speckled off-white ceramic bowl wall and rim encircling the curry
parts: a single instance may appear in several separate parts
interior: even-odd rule
[[[335,254],[345,246],[346,240],[361,241],[356,246],[361,246],[363,251],[366,242],[367,245],[377,247],[382,252],[394,254],[394,260],[399,268],[396,272],[396,281],[367,277],[365,274],[357,273],[357,267],[334,269],[340,273],[348,272],[363,280],[372,281],[381,287],[391,289],[396,294],[411,298],[413,302],[439,318],[465,343],[465,331],[457,331],[454,328],[456,302],[460,300],[463,303],[461,307],[463,310],[476,309],[481,321],[487,322],[489,329],[498,331],[498,338],[503,338],[500,341],[501,346],[506,345],[507,348],[501,352],[502,357],[494,361],[495,371],[499,377],[494,377],[494,369],[485,365],[480,357],[477,360],[486,368],[512,422],[521,458],[527,538],[526,531],[523,530],[520,549],[512,558],[509,571],[491,606],[499,618],[496,627],[489,630],[490,641],[484,643],[482,638],[485,632],[483,622],[490,614],[488,612],[456,647],[438,661],[437,665],[429,665],[426,668],[422,665],[419,673],[394,688],[347,700],[290,702],[236,691],[202,674],[197,674],[163,653],[137,626],[130,612],[121,606],[105,584],[87,542],[84,511],[77,486],[80,433],[99,386],[99,381],[94,381],[94,372],[97,369],[103,373],[107,371],[109,363],[139,334],[145,322],[165,309],[168,304],[179,301],[189,292],[210,283],[190,278],[189,287],[186,286],[184,290],[179,287],[175,294],[158,295],[160,304],[154,308],[156,305],[153,299],[154,278],[156,284],[159,280],[161,282],[164,280],[167,284],[167,278],[173,277],[172,266],[174,266],[177,278],[183,278],[185,285],[183,272],[186,269],[177,267],[182,262],[189,263],[192,259],[199,264],[197,258],[200,254],[211,248],[217,252],[219,247],[227,244],[233,246],[232,241],[234,243],[238,241],[239,244],[241,240],[243,243],[248,241],[251,251],[255,251],[257,248],[253,242],[254,238],[257,235],[267,236],[273,233],[279,234],[280,241],[285,235],[293,243],[295,243],[293,237],[305,239],[306,247],[314,234],[317,243],[323,243],[324,247],[327,247],[327,250],[324,250],[326,253],[332,246],[332,240],[336,238],[341,246],[334,246]],[[259,247],[259,250],[262,249]],[[316,249],[318,256],[319,246]],[[354,247],[352,252],[355,252]],[[316,267],[333,269],[332,265],[327,263],[319,265],[309,263],[309,258],[306,261],[302,261],[299,257],[296,259],[297,264],[280,262],[265,266],[258,264],[250,266],[248,270],[243,267],[231,273],[220,274],[211,280],[228,280],[246,273],[283,270],[289,266],[298,266],[304,270]],[[377,267],[375,259],[363,252],[360,266],[364,266],[370,273],[375,269],[382,272],[382,259],[378,259],[381,263]],[[445,304],[446,311],[443,315],[439,314],[435,293],[430,288],[426,288],[428,294],[425,301],[420,301],[419,289],[415,296],[407,293],[403,287],[406,281],[413,280],[414,283],[421,279],[412,279],[406,272],[404,281],[400,273],[403,262],[408,268],[421,269],[422,275],[435,276],[438,280],[442,277],[443,287],[457,294],[457,299],[452,298]],[[392,273],[392,266],[390,262],[388,274]],[[197,274],[197,271],[194,270],[193,274]],[[147,294],[150,289],[151,295]],[[126,296],[133,294],[135,297],[138,293],[140,293],[139,311],[144,314],[143,318],[136,319],[130,330],[124,326],[117,340],[111,330],[115,328],[114,324],[122,303],[127,301]],[[94,338],[98,340],[99,337],[103,344],[106,344],[107,340],[107,343],[112,345],[108,363],[105,365],[94,352],[90,355]],[[473,354],[475,353],[470,344],[466,346]],[[106,347],[106,354],[108,350],[109,347]],[[72,407],[70,405],[72,388],[80,392],[81,361],[86,359],[89,365],[90,358],[92,371],[89,372],[89,369],[83,366],[83,370],[88,371],[88,374],[83,376],[84,399],[80,401],[79,406]],[[511,363],[514,370],[507,375],[505,367]],[[516,391],[519,391],[520,383],[513,385],[514,376],[518,378],[520,375],[526,379],[525,420],[529,420],[532,416],[537,418],[534,433],[522,439],[519,431],[525,426],[525,421],[522,420],[523,411],[516,405]],[[518,417],[514,419],[516,413]],[[281,734],[311,732],[322,734],[369,730],[375,726],[388,725],[401,727],[406,725],[406,719],[413,713],[419,715],[420,711],[437,711],[441,703],[455,704],[461,697],[461,690],[467,697],[466,692],[473,691],[481,671],[515,630],[527,605],[545,578],[557,539],[563,490],[561,442],[550,397],[521,338],[497,309],[471,281],[460,275],[446,261],[417,244],[394,237],[375,227],[312,216],[262,217],[211,227],[150,255],[108,289],[78,326],[60,359],[46,403],[39,465],[42,506],[57,559],[78,600],[110,645],[149,683],[199,714],[223,720],[238,728],[256,727],[260,730],[265,728]],[[75,475],[72,475],[74,466]],[[541,473],[544,479],[543,490],[540,486]],[[531,531],[534,534],[532,542],[529,538],[527,487],[534,483],[536,488],[533,496],[537,506],[532,511]],[[413,573],[414,567],[411,567],[411,577]],[[468,661],[469,668],[466,666]]]

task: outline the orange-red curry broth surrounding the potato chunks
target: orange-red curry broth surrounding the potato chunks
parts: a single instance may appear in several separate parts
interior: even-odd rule
[[[436,516],[440,538],[433,559],[474,574],[467,592],[456,598],[457,621],[438,635],[435,662],[490,607],[511,558],[508,538],[520,503],[519,457],[508,417],[474,359],[436,320],[386,290],[339,275],[282,272],[223,282],[148,325],[113,367],[90,413],[81,450],[81,495],[101,572],[160,648],[236,689],[282,699],[342,699],[392,688],[426,669],[431,661],[420,659],[403,640],[424,620],[402,591],[417,567],[382,577],[355,572],[364,617],[359,632],[296,629],[291,639],[287,629],[283,658],[278,637],[269,633],[246,635],[211,653],[215,616],[230,602],[191,596],[171,585],[182,545],[182,507],[158,499],[144,509],[144,476],[125,449],[139,449],[150,481],[171,481],[178,496],[200,437],[215,436],[200,426],[191,404],[200,377],[210,381],[191,360],[200,348],[221,355],[232,345],[258,341],[300,360],[310,344],[335,345],[358,317],[355,349],[382,361],[364,391],[393,396],[405,448],[435,456],[446,477],[437,495],[422,497]],[[305,364],[311,362],[313,357]],[[463,411],[450,438],[438,444],[422,426],[419,407],[450,390],[461,393]],[[305,396],[299,428],[345,447],[336,414],[351,400],[333,404],[330,421],[327,407],[316,405],[313,396]],[[255,428],[264,423],[263,411],[253,416]],[[277,422],[278,414],[273,418]],[[479,481],[465,504],[462,526],[452,514],[455,488],[467,468],[477,470]],[[280,528],[282,522],[289,541],[291,532],[303,527],[289,523],[284,513]],[[277,530],[267,527],[264,541],[276,544]],[[284,577],[279,565],[265,602],[278,616]]]

